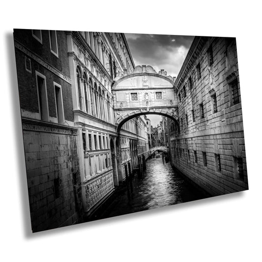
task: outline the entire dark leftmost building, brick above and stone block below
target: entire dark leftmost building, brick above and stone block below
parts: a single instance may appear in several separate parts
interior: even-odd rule
[[[52,35],[57,45],[51,47]],[[77,129],[65,34],[15,29],[14,40],[32,231],[79,223]]]

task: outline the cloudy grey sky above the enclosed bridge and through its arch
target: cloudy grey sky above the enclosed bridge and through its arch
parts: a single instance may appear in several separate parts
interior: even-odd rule
[[[160,69],[167,75],[177,76],[194,36],[133,34],[125,33],[135,65],[151,65],[156,72]],[[158,115],[148,115],[152,125],[157,126],[162,119]]]

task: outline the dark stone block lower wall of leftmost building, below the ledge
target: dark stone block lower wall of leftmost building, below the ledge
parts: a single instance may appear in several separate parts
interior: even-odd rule
[[[75,128],[23,119],[32,231],[72,225],[81,218]],[[80,216],[79,216],[80,215]]]

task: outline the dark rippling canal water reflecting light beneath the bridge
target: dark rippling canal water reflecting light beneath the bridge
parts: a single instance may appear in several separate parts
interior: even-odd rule
[[[116,198],[102,217],[119,216],[138,211],[203,199],[204,195],[180,175],[175,174],[170,163],[162,157],[148,159],[143,178],[132,179],[133,193],[128,198],[126,188],[116,193]]]

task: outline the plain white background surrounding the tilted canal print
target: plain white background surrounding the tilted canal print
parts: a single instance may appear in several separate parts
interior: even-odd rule
[[[1,4],[1,261],[262,261],[259,1],[60,2]],[[236,36],[250,189],[30,233],[13,28]]]

